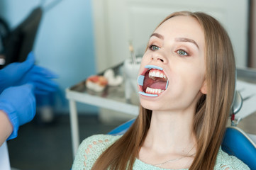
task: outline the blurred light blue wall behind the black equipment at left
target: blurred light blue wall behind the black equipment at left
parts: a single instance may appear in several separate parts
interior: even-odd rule
[[[11,28],[41,4],[39,0],[1,0],[0,15]],[[54,0],[45,1],[48,6]],[[60,76],[62,97],[65,89],[96,73],[91,0],[62,0],[43,13],[34,52],[36,62]],[[68,111],[67,102],[57,110]],[[79,106],[79,111],[96,112],[92,106]]]

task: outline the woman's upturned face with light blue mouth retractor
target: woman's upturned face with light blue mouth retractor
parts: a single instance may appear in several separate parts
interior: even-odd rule
[[[204,30],[191,16],[174,16],[155,30],[138,77],[140,103],[152,111],[194,109],[206,93]]]

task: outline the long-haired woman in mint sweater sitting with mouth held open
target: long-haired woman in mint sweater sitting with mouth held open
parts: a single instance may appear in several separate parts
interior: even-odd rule
[[[123,136],[84,140],[73,169],[249,169],[221,150],[235,89],[228,34],[211,16],[172,13],[141,62],[140,113]]]

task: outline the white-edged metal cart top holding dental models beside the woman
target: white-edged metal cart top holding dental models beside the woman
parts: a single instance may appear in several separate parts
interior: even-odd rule
[[[123,62],[111,67],[110,69],[113,69],[115,75],[123,76]],[[97,75],[103,75],[104,72],[100,72]],[[87,103],[92,106],[99,106],[101,108],[108,108],[113,111],[122,111],[123,113],[138,115],[138,96],[133,95],[130,100],[127,100],[125,97],[124,83],[122,83],[120,86],[106,86],[104,91],[95,92],[87,89],[85,86],[86,80],[87,79],[84,79],[78,84],[67,88],[67,99]]]

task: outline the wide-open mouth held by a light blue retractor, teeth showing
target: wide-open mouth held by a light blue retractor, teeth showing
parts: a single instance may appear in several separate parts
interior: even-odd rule
[[[139,94],[156,97],[167,89],[168,79],[161,67],[146,65],[138,77]]]

